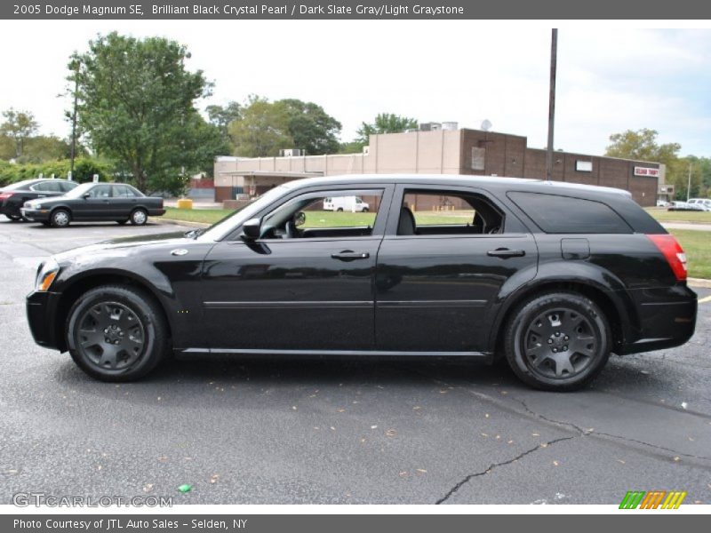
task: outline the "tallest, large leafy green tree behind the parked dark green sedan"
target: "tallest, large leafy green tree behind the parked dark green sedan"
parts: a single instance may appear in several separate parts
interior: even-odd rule
[[[200,144],[220,136],[196,110],[196,100],[209,96],[212,84],[202,71],[186,70],[189,57],[184,46],[162,37],[138,40],[113,32],[90,41],[89,51],[75,54],[68,65],[68,81],[78,83],[80,129],[144,192],[180,193],[186,176],[204,170],[220,152],[206,153],[224,146]]]

